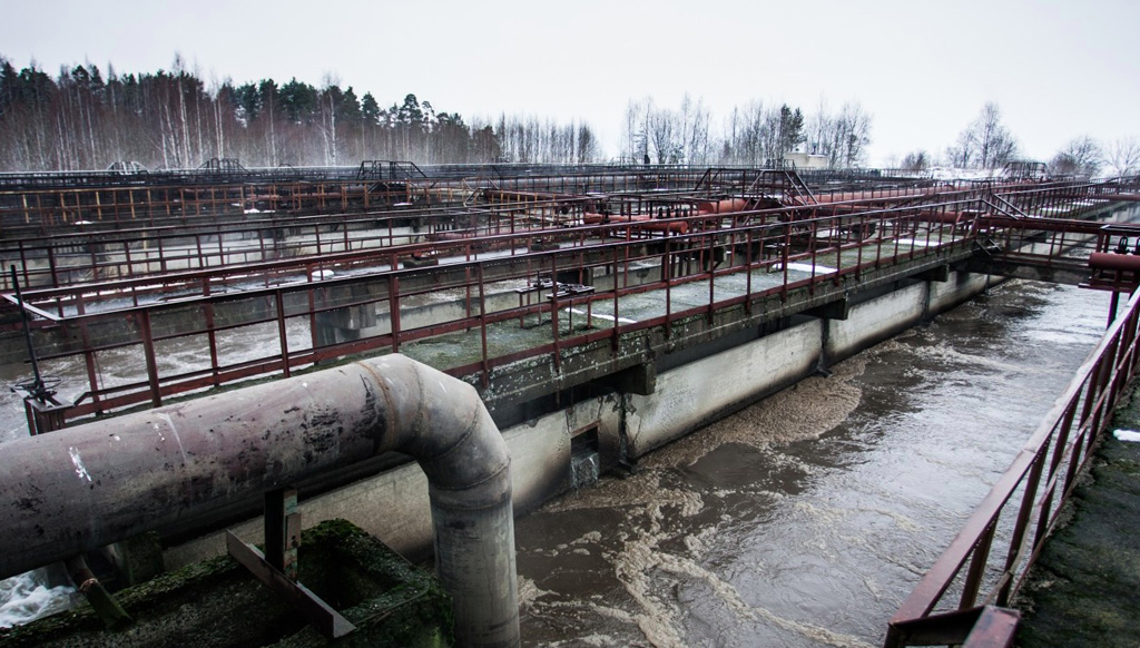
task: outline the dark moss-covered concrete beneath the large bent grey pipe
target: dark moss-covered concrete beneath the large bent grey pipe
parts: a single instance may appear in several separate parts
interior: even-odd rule
[[[300,582],[357,626],[336,646],[450,646],[450,600],[431,575],[343,520],[306,532]],[[229,557],[189,565],[119,592],[137,623],[109,633],[83,608],[0,630],[0,648],[24,646],[327,646],[283,599]]]

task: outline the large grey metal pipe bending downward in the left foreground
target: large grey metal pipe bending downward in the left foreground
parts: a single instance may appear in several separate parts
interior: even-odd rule
[[[430,483],[462,646],[518,646],[511,459],[475,390],[399,355],[0,445],[0,577],[372,455]]]

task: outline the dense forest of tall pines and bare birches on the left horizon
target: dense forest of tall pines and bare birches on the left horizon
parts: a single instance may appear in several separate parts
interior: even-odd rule
[[[600,152],[588,124],[502,115],[464,122],[407,95],[381,107],[325,79],[206,83],[176,57],[170,71],[123,74],[108,65],[17,71],[0,57],[0,170],[92,170],[119,161],[195,168],[210,159],[246,167],[417,163],[584,163]]]

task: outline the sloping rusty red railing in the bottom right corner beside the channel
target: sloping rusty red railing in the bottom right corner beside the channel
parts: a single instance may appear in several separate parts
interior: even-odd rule
[[[1016,624],[979,630],[977,635],[970,632],[985,606],[1009,605],[1057,525],[1097,438],[1137,373],[1138,326],[1140,292],[1132,295],[1044,422],[903,601],[890,619],[886,648],[962,643],[967,637],[978,647],[1009,645]],[[997,533],[1003,515],[1015,516],[1008,536]],[[947,606],[951,591],[958,601]]]

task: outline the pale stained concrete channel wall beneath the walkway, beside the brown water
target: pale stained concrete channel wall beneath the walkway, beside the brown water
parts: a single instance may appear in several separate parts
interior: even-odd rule
[[[603,465],[636,459],[709,422],[814,373],[922,319],[980,293],[982,275],[952,273],[947,282],[923,282],[871,299],[848,318],[812,319],[657,375],[648,396],[611,394],[585,399],[503,431],[511,448],[515,513],[532,510],[570,485],[571,439],[597,429]],[[303,496],[303,493],[302,493]],[[407,464],[301,504],[306,527],[345,518],[409,557],[431,546],[427,480]],[[235,530],[260,542],[260,519]],[[177,567],[222,553],[222,534],[172,548]]]

